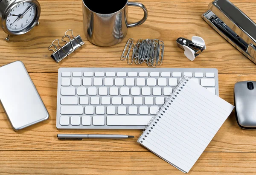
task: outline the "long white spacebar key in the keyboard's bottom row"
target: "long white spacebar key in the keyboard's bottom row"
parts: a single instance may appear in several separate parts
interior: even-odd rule
[[[108,126],[146,126],[152,116],[107,116]]]

